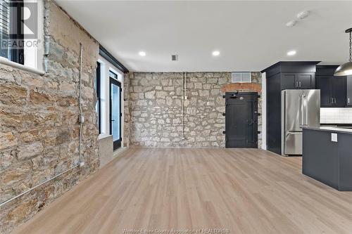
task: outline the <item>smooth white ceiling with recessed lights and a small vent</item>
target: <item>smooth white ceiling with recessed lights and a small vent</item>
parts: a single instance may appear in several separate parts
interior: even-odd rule
[[[132,71],[259,71],[280,60],[348,60],[352,1],[57,2]],[[308,18],[285,26],[303,10]],[[288,57],[292,49],[296,56]]]

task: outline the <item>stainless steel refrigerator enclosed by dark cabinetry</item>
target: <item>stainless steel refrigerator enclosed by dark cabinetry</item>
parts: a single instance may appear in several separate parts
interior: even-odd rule
[[[281,154],[302,155],[302,126],[320,126],[320,90],[287,89],[281,98]]]

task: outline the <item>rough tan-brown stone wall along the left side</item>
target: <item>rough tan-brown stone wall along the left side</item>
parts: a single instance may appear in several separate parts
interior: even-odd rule
[[[93,89],[99,44],[52,1],[44,1],[48,72],[0,65],[0,204],[79,161],[78,82],[83,52],[82,152],[85,165],[0,207],[0,233],[30,219],[99,168]]]

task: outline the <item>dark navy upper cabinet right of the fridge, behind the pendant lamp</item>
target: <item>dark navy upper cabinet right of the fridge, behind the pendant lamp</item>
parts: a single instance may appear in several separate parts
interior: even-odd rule
[[[344,108],[347,105],[346,77],[334,77],[336,65],[317,66],[316,89],[320,89],[322,108]]]

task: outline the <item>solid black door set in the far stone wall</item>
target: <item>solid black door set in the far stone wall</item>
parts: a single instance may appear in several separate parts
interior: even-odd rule
[[[258,148],[258,93],[226,93],[226,148]]]

